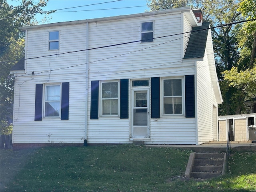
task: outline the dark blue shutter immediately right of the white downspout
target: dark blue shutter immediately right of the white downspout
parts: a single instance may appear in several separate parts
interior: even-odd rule
[[[91,82],[91,119],[98,119],[99,81]]]

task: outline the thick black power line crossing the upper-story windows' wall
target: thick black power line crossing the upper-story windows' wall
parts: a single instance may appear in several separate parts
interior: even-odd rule
[[[209,30],[209,29],[213,29],[213,28],[225,27],[225,26],[230,26],[230,25],[234,25],[234,24],[240,24],[240,23],[244,23],[244,22],[248,22],[248,21],[254,21],[254,20],[256,20],[256,18],[255,18],[255,19],[250,19],[250,20],[243,20],[243,21],[238,21],[238,22],[232,22],[232,23],[229,23],[229,24],[222,24],[222,25],[219,25],[219,26],[204,28],[204,29],[200,29],[200,30],[194,30],[193,32],[200,32],[200,31],[202,31],[202,30]],[[175,36],[175,35],[182,35],[182,34],[187,34],[187,33],[191,33],[191,31],[190,31],[190,32],[184,32],[184,33],[178,33],[178,34],[172,34],[172,35],[166,35],[166,36],[155,37],[155,38],[153,38],[153,39],[165,38],[165,37],[170,37],[170,36]],[[152,39],[152,38],[151,38],[151,39]],[[43,58],[43,57],[49,57],[49,56],[56,56],[56,55],[62,55],[62,54],[69,54],[69,53],[81,52],[81,51],[88,51],[88,50],[95,50],[95,49],[100,49],[100,48],[108,48],[108,47],[120,46],[120,45],[125,45],[125,44],[136,43],[136,42],[141,42],[141,40],[136,40],[136,41],[131,41],[131,42],[125,42],[125,43],[119,43],[119,44],[113,44],[113,45],[107,45],[107,46],[101,46],[101,47],[95,47],[95,48],[89,48],[89,49],[83,49],[83,50],[76,50],[76,51],[64,52],[64,53],[58,53],[58,54],[50,54],[50,55],[45,55],[45,56],[38,56],[38,57],[32,57],[32,58],[25,58],[24,60],[36,59],[36,58]],[[4,63],[4,62],[16,62],[16,61],[20,61],[20,60],[2,61],[1,63]]]

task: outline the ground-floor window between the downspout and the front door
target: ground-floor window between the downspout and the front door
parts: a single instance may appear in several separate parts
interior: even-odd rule
[[[101,115],[118,115],[118,82],[101,82]]]

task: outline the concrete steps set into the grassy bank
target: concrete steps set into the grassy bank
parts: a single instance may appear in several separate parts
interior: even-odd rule
[[[185,176],[209,179],[226,173],[226,153],[191,153]]]

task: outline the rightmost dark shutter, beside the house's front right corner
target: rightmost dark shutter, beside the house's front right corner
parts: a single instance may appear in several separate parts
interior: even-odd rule
[[[195,80],[194,75],[185,75],[186,117],[195,117]]]

